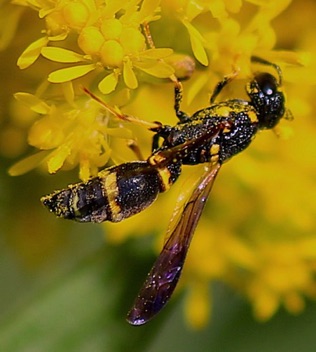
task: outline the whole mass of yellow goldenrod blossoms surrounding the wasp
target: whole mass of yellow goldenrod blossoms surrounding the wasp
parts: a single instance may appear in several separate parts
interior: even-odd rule
[[[168,78],[175,70],[190,77],[184,82],[181,109],[193,113],[209,104],[208,96],[223,76],[238,72],[218,99],[243,99],[243,87],[253,71],[273,70],[251,63],[253,55],[280,65],[287,107],[295,119],[282,121],[275,134],[260,134],[247,151],[223,166],[180,286],[187,289],[186,318],[195,328],[204,326],[211,314],[214,280],[247,297],[259,320],[269,319],[281,305],[297,313],[304,308],[305,296],[316,297],[311,87],[316,77],[315,29],[298,36],[288,26],[297,20],[296,12],[302,11],[305,1],[14,3],[38,12],[43,35],[30,40],[18,60],[23,69],[41,63],[39,87],[35,94],[16,95],[38,114],[28,140],[40,151],[13,166],[12,174],[43,163],[50,173],[79,165],[79,177],[87,180],[109,160],[131,160],[124,148],[129,139],[137,139],[145,157],[150,154],[150,132],[105,113],[82,94],[81,86],[102,93],[110,105],[126,105],[127,114],[172,125],[177,121]],[[308,6],[315,13],[315,5]],[[152,38],[145,35],[148,23]],[[48,83],[43,83],[46,78]],[[190,189],[185,180],[199,174],[198,167],[184,168],[172,189],[151,208],[120,224],[105,224],[107,240],[120,242],[131,235],[159,232],[158,253],[176,199]]]

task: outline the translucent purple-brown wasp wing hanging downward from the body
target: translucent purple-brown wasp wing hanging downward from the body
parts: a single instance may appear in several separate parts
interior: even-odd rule
[[[184,205],[179,220],[127,315],[130,324],[145,324],[171,297],[181,275],[192,235],[219,169],[220,164],[216,164],[204,172],[198,186]]]

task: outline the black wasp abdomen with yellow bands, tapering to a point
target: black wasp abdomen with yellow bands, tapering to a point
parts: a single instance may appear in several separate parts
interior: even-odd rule
[[[172,182],[172,172],[168,167]],[[131,162],[101,171],[85,183],[69,185],[41,199],[53,213],[80,222],[119,222],[146,209],[164,190],[161,170]]]

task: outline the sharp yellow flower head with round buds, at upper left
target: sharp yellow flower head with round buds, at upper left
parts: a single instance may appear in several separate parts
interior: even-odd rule
[[[160,59],[169,56],[171,49],[146,49],[141,25],[159,18],[159,1],[55,1],[35,2],[33,8],[45,19],[46,36],[30,44],[18,60],[27,68],[40,55],[62,64],[77,64],[51,72],[48,81],[63,83],[94,72],[103,78],[98,87],[103,94],[114,91],[121,76],[130,89],[138,86],[134,72],[143,71],[166,78],[173,73],[171,66]],[[27,2],[24,3],[27,6]],[[77,47],[74,46],[74,38]],[[50,43],[61,42],[64,47]],[[81,50],[82,53],[78,52]],[[101,77],[102,77],[101,76]]]

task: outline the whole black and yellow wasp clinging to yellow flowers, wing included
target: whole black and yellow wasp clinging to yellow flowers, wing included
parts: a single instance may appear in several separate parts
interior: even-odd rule
[[[192,116],[180,110],[182,86],[176,82],[174,107],[179,122],[175,126],[123,115],[86,90],[120,119],[144,125],[154,132],[152,154],[146,161],[107,168],[88,182],[44,196],[41,201],[57,216],[80,222],[119,222],[143,211],[160,192],[168,190],[180,176],[183,165],[207,165],[175,224],[169,226],[168,239],[128,313],[127,320],[133,325],[150,320],[172,295],[222,164],[247,148],[259,130],[274,128],[286,116],[279,66],[257,57],[253,61],[272,66],[278,77],[267,72],[256,73],[246,85],[249,100],[215,103],[234,75],[227,76],[217,84],[210,106]]]

